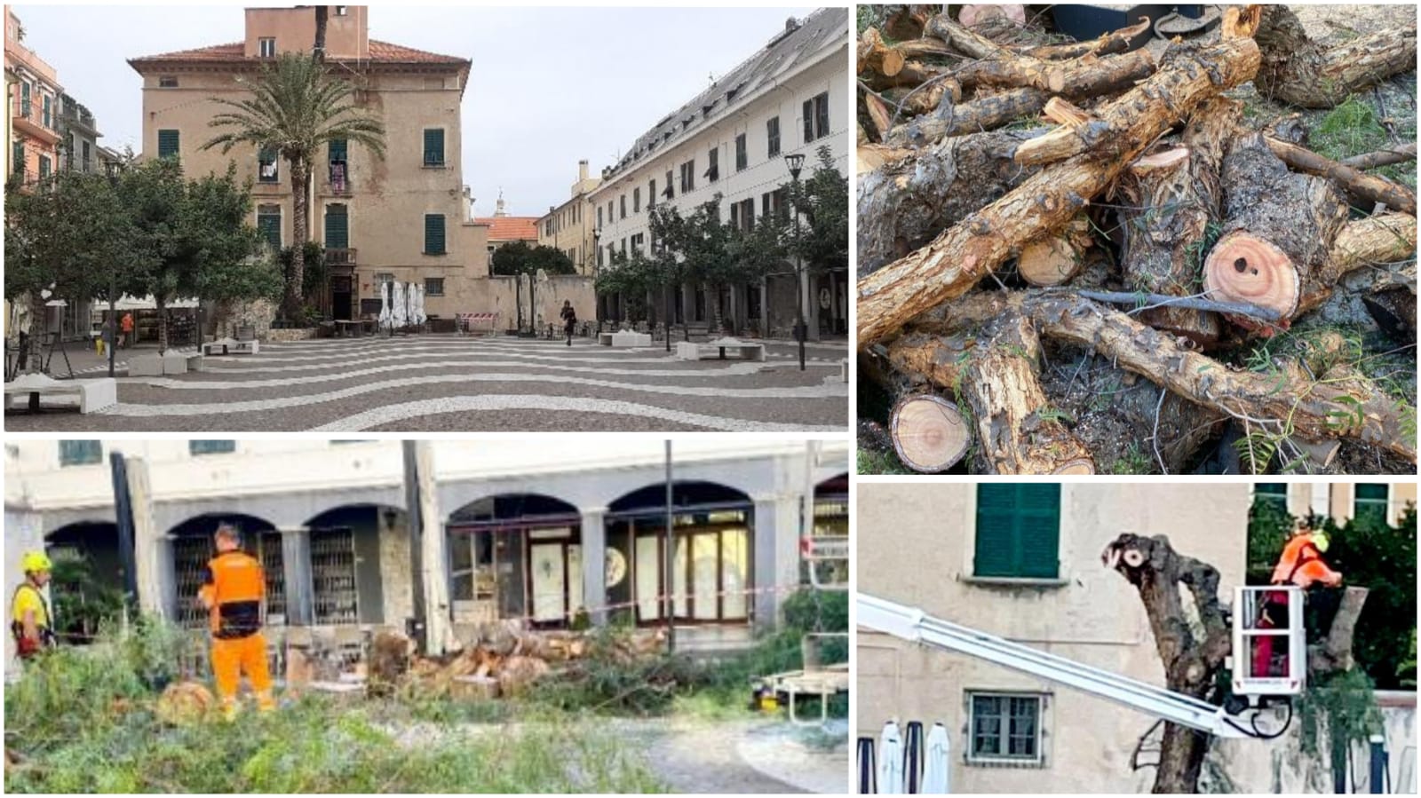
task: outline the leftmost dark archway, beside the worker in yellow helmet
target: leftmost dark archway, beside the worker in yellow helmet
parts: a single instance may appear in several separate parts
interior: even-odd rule
[[[124,557],[118,525],[108,521],[65,524],[44,535],[54,562],[50,596],[54,629],[67,645],[94,640],[99,628],[124,612]]]

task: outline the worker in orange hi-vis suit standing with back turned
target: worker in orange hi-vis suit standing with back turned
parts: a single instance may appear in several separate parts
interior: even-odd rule
[[[217,557],[207,561],[207,579],[199,599],[212,621],[212,673],[217,682],[223,717],[237,716],[242,673],[252,680],[257,709],[276,707],[266,639],[261,636],[261,602],[266,576],[261,564],[242,551],[236,530],[223,524],[216,532]]]

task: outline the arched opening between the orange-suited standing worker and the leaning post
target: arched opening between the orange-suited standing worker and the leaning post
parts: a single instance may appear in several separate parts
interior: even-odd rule
[[[314,625],[392,623],[414,616],[409,517],[404,510],[344,504],[303,525],[310,534]]]

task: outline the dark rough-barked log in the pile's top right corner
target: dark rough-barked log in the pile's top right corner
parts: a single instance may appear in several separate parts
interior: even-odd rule
[[[1258,89],[1302,108],[1331,108],[1391,75],[1415,68],[1417,26],[1361,35],[1337,47],[1307,38],[1287,6],[1265,6],[1256,34],[1263,51]]]

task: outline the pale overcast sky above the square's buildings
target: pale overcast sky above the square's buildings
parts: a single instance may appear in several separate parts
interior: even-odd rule
[[[473,61],[463,182],[475,213],[539,216],[716,77],[813,9],[374,6],[369,35]],[[114,149],[139,149],[142,82],[126,60],[242,38],[240,6],[14,6],[26,45],[87,105]],[[433,24],[432,24],[433,23]]]

